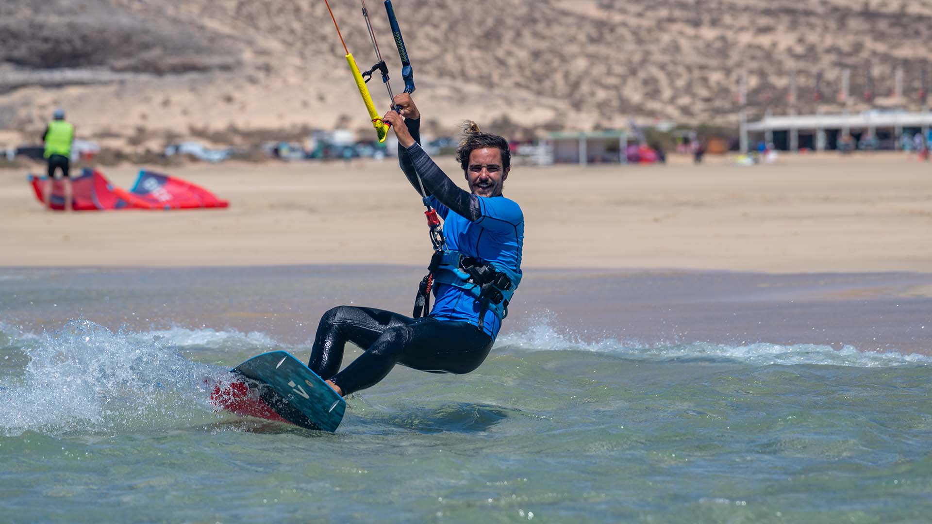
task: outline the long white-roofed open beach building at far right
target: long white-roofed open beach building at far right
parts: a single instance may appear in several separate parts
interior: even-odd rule
[[[923,136],[928,136],[930,128],[932,113],[928,111],[870,110],[836,115],[767,115],[761,121],[741,126],[741,144],[745,153],[752,138],[762,139],[785,151],[799,151],[801,148],[824,151],[838,149],[838,143],[844,136],[855,139],[870,136],[877,138],[883,149],[897,149],[899,137],[904,132],[921,132]]]

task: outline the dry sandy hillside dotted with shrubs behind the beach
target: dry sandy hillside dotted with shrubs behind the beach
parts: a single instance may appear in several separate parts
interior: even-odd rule
[[[374,62],[359,0],[334,0],[361,66]],[[62,106],[116,142],[236,142],[258,131],[365,130],[322,0],[49,0],[0,4],[0,133],[34,132]],[[918,108],[932,83],[932,4],[905,0],[395,0],[428,125],[462,118],[538,129],[629,118],[733,123],[751,113]],[[382,50],[403,85],[378,0]],[[903,97],[895,97],[900,75]],[[387,106],[380,82],[370,84]],[[865,101],[873,95],[870,103]],[[3,136],[0,134],[0,136]],[[130,137],[131,140],[130,140]],[[0,139],[0,142],[3,142]]]

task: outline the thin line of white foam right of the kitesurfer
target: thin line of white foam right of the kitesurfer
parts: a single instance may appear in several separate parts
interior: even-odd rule
[[[496,351],[526,352],[581,351],[624,356],[651,362],[733,362],[748,365],[844,365],[851,367],[885,367],[896,365],[932,365],[932,357],[899,352],[861,352],[844,345],[836,350],[828,345],[780,345],[765,342],[728,345],[711,342],[650,345],[637,341],[602,338],[584,341],[579,335],[555,328],[549,319],[541,319],[526,331],[507,333],[496,341]]]

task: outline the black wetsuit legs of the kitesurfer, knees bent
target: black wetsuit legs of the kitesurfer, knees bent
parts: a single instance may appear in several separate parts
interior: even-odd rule
[[[348,341],[365,352],[336,373]],[[486,360],[493,341],[465,322],[340,306],[321,318],[308,367],[349,394],[375,385],[395,364],[435,373],[469,373]]]

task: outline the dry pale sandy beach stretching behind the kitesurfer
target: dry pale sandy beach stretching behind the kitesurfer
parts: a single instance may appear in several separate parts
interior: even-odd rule
[[[441,163],[462,186],[455,163]],[[123,187],[137,171],[102,168]],[[25,172],[0,172],[0,265],[419,266],[429,255],[418,195],[393,159],[166,171],[230,208],[51,213]],[[673,159],[515,166],[505,195],[525,212],[526,268],[929,272],[930,182],[932,165],[905,155],[784,157],[753,167]]]

